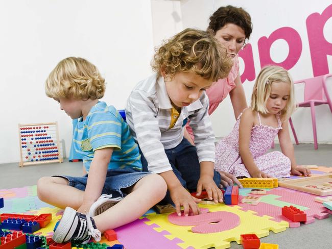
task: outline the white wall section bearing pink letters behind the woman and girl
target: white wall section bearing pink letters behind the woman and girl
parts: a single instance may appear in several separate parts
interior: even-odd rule
[[[245,1],[245,0],[223,0],[223,1],[181,1],[181,16],[183,28],[200,28],[205,30],[208,26],[208,18],[220,6],[233,5],[242,7],[252,17],[253,32],[249,43],[252,45],[256,76],[260,70],[257,41],[259,38],[269,37],[272,32],[281,27],[295,29],[302,41],[302,53],[290,72],[294,80],[313,77],[312,60],[310,56],[309,41],[307,37],[306,18],[315,12],[322,13],[331,4],[330,1]],[[329,18],[324,27],[325,39],[332,43],[332,18]],[[270,50],[271,57],[275,62],[281,62],[287,58],[288,45],[284,40],[276,40]],[[330,51],[331,54],[331,51]],[[332,72],[332,56],[327,56],[329,73]],[[244,71],[244,63],[240,58],[240,73]],[[250,104],[251,92],[254,81],[245,81],[243,86],[248,104]],[[332,85],[332,82],[331,84]],[[330,87],[332,95],[332,86]],[[297,90],[297,95],[301,91]],[[303,95],[303,93],[302,93]],[[313,142],[310,108],[299,108],[292,116],[295,130],[300,142]],[[211,115],[214,131],[217,137],[226,136],[232,129],[235,119],[227,97],[218,109]],[[327,105],[316,107],[316,125],[319,143],[332,142],[332,113]],[[293,136],[291,135],[293,138]]]

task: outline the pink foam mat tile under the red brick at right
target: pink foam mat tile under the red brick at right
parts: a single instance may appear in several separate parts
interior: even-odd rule
[[[317,195],[303,193],[281,187],[270,190],[268,194],[279,196],[276,197],[275,200],[309,208],[304,210],[307,216],[307,220],[304,222],[305,224],[314,222],[315,218],[324,219],[329,216],[329,213],[326,212],[326,208],[321,203],[315,202],[315,197],[317,197]],[[241,206],[245,211],[252,210],[257,212],[256,215],[258,216],[268,215],[274,217],[272,220],[275,220],[277,222],[285,220],[289,222],[290,228],[297,228],[300,226],[300,222],[294,222],[284,217],[281,214],[282,207],[279,206],[264,202],[260,202],[257,206],[249,205],[246,203],[241,203],[239,204],[239,206]]]

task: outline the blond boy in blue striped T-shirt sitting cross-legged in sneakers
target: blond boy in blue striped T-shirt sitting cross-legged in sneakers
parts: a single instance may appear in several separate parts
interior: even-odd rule
[[[40,200],[65,208],[54,241],[80,244],[91,236],[99,241],[105,230],[137,219],[162,200],[167,191],[164,180],[142,172],[128,124],[113,106],[99,101],[105,80],[96,66],[82,58],[66,58],[50,73],[45,91],[61,110],[79,119],[73,143],[87,173],[38,180]]]

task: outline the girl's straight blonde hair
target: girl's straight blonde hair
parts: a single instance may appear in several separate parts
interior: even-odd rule
[[[281,110],[281,119],[287,120],[296,109],[294,82],[290,73],[280,66],[266,66],[260,70],[251,95],[251,110],[267,114],[266,102],[270,97],[272,83],[290,84],[290,95],[286,107]]]

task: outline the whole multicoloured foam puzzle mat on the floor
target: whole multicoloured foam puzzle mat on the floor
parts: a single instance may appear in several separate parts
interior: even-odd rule
[[[320,166],[312,170],[315,175],[321,175],[332,171],[332,168]],[[292,177],[296,178],[296,177]],[[250,194],[251,188],[239,189],[240,198]],[[236,220],[240,219],[236,226],[223,232],[194,233],[193,226],[178,226],[168,220],[169,213],[156,214],[153,209],[143,217],[115,229],[117,241],[107,241],[104,237],[101,243],[109,245],[123,244],[125,248],[229,248],[231,241],[241,243],[241,234],[255,233],[259,238],[268,236],[270,231],[279,233],[287,228],[296,228],[300,222],[293,222],[281,215],[283,206],[291,206],[304,211],[307,221],[303,224],[315,222],[316,219],[324,219],[332,214],[332,211],[315,202],[317,195],[299,192],[286,188],[266,189],[267,194],[262,195],[258,205],[199,205],[209,212],[229,212]],[[37,197],[36,186],[2,189],[0,197],[4,197],[4,208],[0,213],[21,213],[39,215],[52,213],[52,221],[43,229],[35,232],[35,235],[52,236],[56,222],[61,218],[63,210],[41,202]],[[234,218],[235,219],[235,218]],[[222,220],[220,221],[222,222]],[[228,220],[227,222],[231,222]],[[214,223],[207,226],[214,226]]]

